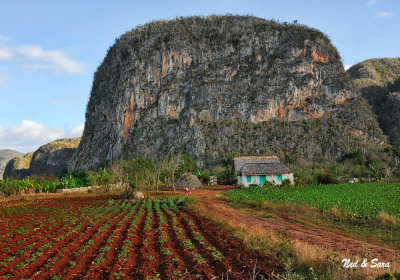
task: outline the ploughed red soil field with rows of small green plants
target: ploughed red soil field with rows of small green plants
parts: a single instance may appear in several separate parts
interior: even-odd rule
[[[248,250],[173,200],[47,199],[0,206],[3,279],[275,279]]]

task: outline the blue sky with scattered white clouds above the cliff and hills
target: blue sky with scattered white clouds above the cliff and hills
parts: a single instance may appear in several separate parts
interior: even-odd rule
[[[398,0],[0,0],[0,149],[26,153],[81,136],[93,74],[124,32],[227,13],[317,28],[346,68],[400,57]]]

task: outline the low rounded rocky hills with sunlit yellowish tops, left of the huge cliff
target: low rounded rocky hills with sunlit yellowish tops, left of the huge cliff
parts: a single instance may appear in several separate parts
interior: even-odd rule
[[[55,140],[39,147],[34,153],[10,160],[4,171],[4,178],[24,178],[32,175],[62,175],[68,169],[68,162],[79,145],[81,138]]]

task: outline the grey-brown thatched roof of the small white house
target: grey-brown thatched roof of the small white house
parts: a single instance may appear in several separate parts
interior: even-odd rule
[[[236,157],[234,165],[236,175],[290,173],[277,156]]]

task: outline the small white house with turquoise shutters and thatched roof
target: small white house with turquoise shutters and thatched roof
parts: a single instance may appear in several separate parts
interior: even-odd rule
[[[277,156],[244,156],[234,158],[234,168],[238,185],[264,185],[265,181],[280,185],[290,179],[294,183],[293,172],[290,172]]]

